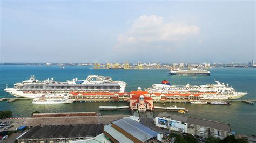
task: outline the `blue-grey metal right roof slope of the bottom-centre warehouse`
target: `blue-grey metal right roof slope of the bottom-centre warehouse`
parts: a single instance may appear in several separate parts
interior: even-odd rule
[[[114,121],[113,124],[122,128],[124,131],[131,134],[133,137],[137,138],[142,142],[154,138],[158,134],[156,131],[153,131],[150,128],[130,118]]]

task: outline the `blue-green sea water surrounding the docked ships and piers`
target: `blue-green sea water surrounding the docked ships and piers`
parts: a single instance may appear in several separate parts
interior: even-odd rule
[[[4,92],[6,84],[13,84],[28,80],[35,75],[38,80],[54,78],[56,81],[72,80],[73,78],[85,79],[87,75],[111,76],[113,80],[122,80],[127,83],[126,91],[151,87],[152,84],[168,80],[173,85],[204,85],[214,83],[214,79],[225,84],[230,84],[236,91],[247,92],[241,99],[256,98],[256,68],[212,68],[211,76],[170,76],[166,69],[92,69],[90,66],[28,66],[28,65],[0,65],[0,98],[13,97]],[[82,102],[60,105],[35,105],[31,100],[19,100],[13,103],[0,102],[0,111],[11,110],[14,117],[29,117],[33,111],[48,112],[100,112],[105,114],[130,115],[128,109],[118,111],[99,111],[99,106],[124,106],[126,102]],[[163,106],[155,103],[156,106]],[[194,105],[190,103],[166,103],[166,106],[183,106],[190,110],[185,116],[221,121],[229,123],[231,130],[239,134],[256,134],[256,105],[233,101],[227,105]],[[165,110],[156,109],[154,115]],[[174,113],[174,112],[173,112]]]

